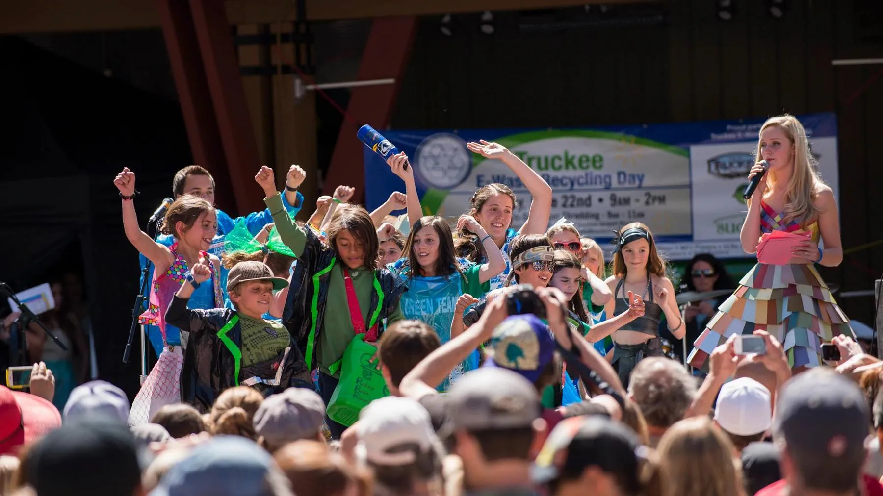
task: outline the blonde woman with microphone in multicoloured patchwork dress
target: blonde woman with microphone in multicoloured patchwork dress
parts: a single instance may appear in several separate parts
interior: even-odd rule
[[[792,370],[801,372],[821,363],[822,342],[854,336],[814,266],[836,267],[843,259],[837,204],[794,116],[766,120],[756,158],[749,178],[764,173],[761,160],[769,169],[748,200],[741,240],[745,252],[758,254],[758,264],[708,320],[689,360],[704,366],[730,334],[765,330],[784,343]]]

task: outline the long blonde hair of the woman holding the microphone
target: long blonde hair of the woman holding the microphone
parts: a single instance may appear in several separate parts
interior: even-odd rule
[[[758,149],[755,152],[757,159],[760,154],[760,133],[767,128],[776,126],[785,133],[785,136],[794,145],[794,171],[785,187],[785,222],[796,221],[802,227],[806,227],[819,218],[819,209],[813,205],[819,192],[819,186],[825,184],[819,176],[819,163],[810,152],[810,142],[806,139],[804,124],[800,124],[795,116],[785,114],[766,119],[758,132]],[[772,186],[775,184],[775,173],[769,171],[766,179]]]

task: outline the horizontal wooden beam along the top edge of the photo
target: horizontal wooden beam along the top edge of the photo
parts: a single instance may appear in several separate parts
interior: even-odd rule
[[[184,0],[181,0],[182,2]],[[307,20],[442,15],[479,11],[554,9],[586,4],[637,4],[661,0],[306,0]],[[293,0],[227,0],[230,25],[295,19]],[[47,15],[46,12],[51,12]],[[8,0],[0,2],[0,34],[67,33],[159,27],[151,0]]]

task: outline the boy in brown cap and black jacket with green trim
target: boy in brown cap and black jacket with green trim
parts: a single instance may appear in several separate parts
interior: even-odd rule
[[[166,322],[189,334],[181,368],[182,401],[208,411],[228,387],[251,386],[264,395],[288,387],[313,389],[304,356],[286,328],[262,318],[273,290],[285,288],[288,281],[274,277],[262,262],[239,262],[227,276],[235,310],[188,309],[193,290],[210,275],[208,267],[194,265],[166,311]]]

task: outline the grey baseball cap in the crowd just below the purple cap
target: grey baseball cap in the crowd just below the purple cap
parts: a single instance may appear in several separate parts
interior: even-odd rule
[[[449,429],[484,431],[530,427],[540,417],[540,395],[525,376],[484,367],[450,387]]]

